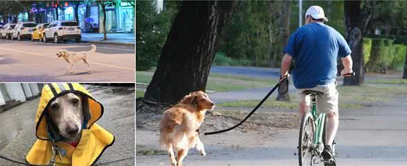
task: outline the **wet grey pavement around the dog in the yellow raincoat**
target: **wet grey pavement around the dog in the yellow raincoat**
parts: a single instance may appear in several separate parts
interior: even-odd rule
[[[87,85],[91,95],[105,107],[96,122],[115,136],[98,163],[134,165],[134,87]],[[0,153],[24,161],[35,142],[35,112],[39,97],[0,113]],[[111,163],[110,163],[111,162]],[[17,165],[0,159],[0,165]]]

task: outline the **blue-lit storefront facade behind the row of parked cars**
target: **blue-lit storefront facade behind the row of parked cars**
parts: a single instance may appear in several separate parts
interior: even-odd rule
[[[98,3],[82,4],[78,8],[78,19],[82,33],[103,33],[103,10]],[[33,20],[37,24],[55,20],[75,20],[75,10],[69,3],[64,3],[63,7],[57,9],[33,7],[29,14],[20,13],[18,20]],[[134,7],[131,3],[116,0],[113,6],[106,6],[106,33],[134,33],[134,21]]]

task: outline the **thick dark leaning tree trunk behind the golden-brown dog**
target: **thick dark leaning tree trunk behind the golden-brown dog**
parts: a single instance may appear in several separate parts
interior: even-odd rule
[[[163,46],[145,100],[174,104],[191,91],[205,91],[237,1],[183,1]]]

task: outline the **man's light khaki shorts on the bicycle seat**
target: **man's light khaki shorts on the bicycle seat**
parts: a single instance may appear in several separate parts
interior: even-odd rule
[[[311,89],[298,89],[298,100],[306,102],[307,106],[311,105],[311,97],[302,92],[306,90],[319,91],[323,95],[318,95],[316,98],[316,105],[318,111],[324,113],[331,113],[332,111],[338,112],[338,91],[336,91],[336,81],[326,85],[317,85]]]

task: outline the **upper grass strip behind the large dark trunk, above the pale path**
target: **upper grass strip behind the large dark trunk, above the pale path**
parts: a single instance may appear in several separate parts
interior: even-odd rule
[[[153,72],[137,71],[136,82],[150,83]],[[207,90],[211,91],[234,91],[241,89],[253,89],[266,86],[273,86],[277,79],[262,79],[243,76],[232,76],[223,74],[210,74],[208,77]]]

